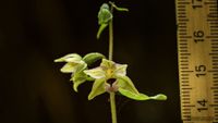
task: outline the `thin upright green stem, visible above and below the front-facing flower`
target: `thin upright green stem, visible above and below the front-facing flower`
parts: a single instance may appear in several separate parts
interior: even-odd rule
[[[111,13],[113,11],[113,7],[111,5]],[[113,28],[112,28],[112,20],[109,22],[109,60],[112,61],[113,54]],[[116,93],[110,93],[110,109],[111,109],[111,118],[112,123],[117,123],[117,111],[116,111]]]

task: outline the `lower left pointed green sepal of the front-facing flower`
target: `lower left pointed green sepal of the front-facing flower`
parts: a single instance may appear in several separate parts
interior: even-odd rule
[[[93,84],[93,88],[92,91],[88,95],[88,100],[92,100],[93,98],[95,98],[98,95],[101,95],[104,93],[106,93],[105,89],[105,78],[100,78],[100,79],[96,79]]]

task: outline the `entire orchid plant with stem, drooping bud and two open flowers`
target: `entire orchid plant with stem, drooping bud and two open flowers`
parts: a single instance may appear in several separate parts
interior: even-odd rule
[[[73,89],[77,91],[77,87],[85,82],[94,82],[93,88],[88,95],[88,100],[94,99],[104,93],[110,95],[111,118],[112,123],[117,123],[116,114],[116,94],[121,94],[133,100],[166,100],[167,96],[158,94],[156,96],[147,96],[138,93],[131,78],[126,75],[128,64],[120,64],[112,61],[113,54],[113,10],[128,12],[125,8],[119,8],[113,2],[102,3],[98,12],[99,29],[97,39],[100,34],[109,26],[109,57],[106,58],[99,52],[92,52],[84,57],[77,53],[70,53],[55,60],[55,62],[65,62],[60,70],[62,73],[70,73],[73,82]],[[89,69],[96,61],[101,60],[99,66]]]

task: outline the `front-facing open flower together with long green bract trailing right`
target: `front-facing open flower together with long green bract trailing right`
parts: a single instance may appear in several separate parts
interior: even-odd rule
[[[100,66],[85,70],[84,73],[95,79],[92,91],[88,95],[88,100],[106,91],[119,91],[121,95],[134,100],[167,99],[162,94],[148,97],[138,93],[133,82],[126,76],[126,64],[118,64],[113,61],[102,59]]]

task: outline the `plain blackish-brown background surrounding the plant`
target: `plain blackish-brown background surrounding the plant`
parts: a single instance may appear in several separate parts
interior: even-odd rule
[[[74,93],[66,53],[108,54],[96,40],[97,12],[107,0],[0,1],[0,123],[110,123],[108,95],[88,101],[92,83]],[[167,101],[117,98],[118,123],[181,123],[174,0],[116,0],[114,61],[128,63],[140,91]]]

